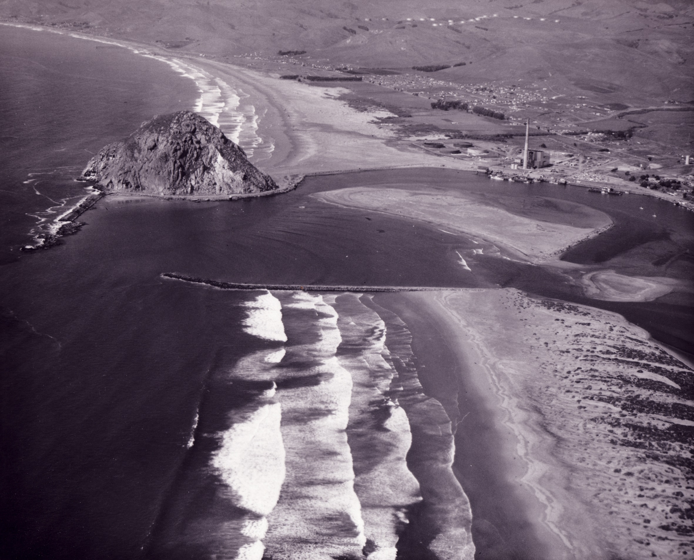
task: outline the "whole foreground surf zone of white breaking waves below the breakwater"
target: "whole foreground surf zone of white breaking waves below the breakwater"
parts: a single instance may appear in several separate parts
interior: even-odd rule
[[[216,404],[201,406],[191,449],[214,475],[196,493],[220,505],[164,528],[169,548],[194,539],[236,560],[396,560],[418,543],[441,560],[472,558],[450,418],[423,392],[405,323],[358,293],[273,290],[244,306],[244,329],[267,345],[214,371]],[[212,410],[223,427],[205,431]]]

